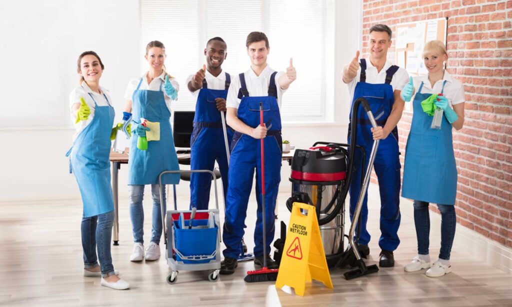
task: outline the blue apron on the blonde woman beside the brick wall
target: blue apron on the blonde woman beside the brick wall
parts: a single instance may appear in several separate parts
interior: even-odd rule
[[[443,93],[444,85],[443,82]],[[413,121],[407,139],[403,166],[404,198],[442,205],[455,205],[457,165],[453,152],[452,125],[443,116],[441,129],[431,129],[432,116],[421,108],[421,101],[432,94],[421,93],[413,100]]]

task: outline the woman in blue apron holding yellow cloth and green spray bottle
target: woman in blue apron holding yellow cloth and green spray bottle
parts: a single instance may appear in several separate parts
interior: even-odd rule
[[[178,170],[178,157],[174,147],[173,131],[170,127],[170,103],[178,99],[179,84],[165,71],[165,47],[158,40],[146,46],[149,69],[140,78],[132,79],[124,98],[124,111],[131,113],[135,123],[130,146],[129,179],[130,216],[132,219],[134,249],[131,261],[158,260],[162,235],[162,214],[158,175],[164,170]],[[179,174],[167,174],[162,184],[178,184]],[[144,210],[142,200],[144,185],[151,184],[153,196],[153,222],[150,245],[144,255]],[[165,188],[163,189],[165,192]],[[165,206],[165,194],[163,202]]]

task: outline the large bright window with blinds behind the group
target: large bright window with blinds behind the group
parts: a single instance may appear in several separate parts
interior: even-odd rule
[[[268,64],[276,71],[290,57],[297,80],[283,95],[283,121],[322,121],[325,116],[325,0],[140,0],[141,54],[151,40],[166,47],[167,72],[180,83],[176,111],[194,110],[186,79],[205,63],[206,41],[214,36],[227,43],[223,69],[236,75],[249,67],[245,39],[252,31],[267,34]],[[141,72],[147,63],[141,59]]]

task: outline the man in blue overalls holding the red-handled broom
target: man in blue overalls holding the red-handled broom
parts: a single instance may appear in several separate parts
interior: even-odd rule
[[[263,257],[267,267],[278,265],[263,254],[263,244],[270,253],[274,237],[275,202],[281,182],[281,97],[296,78],[290,59],[286,72],[275,72],[267,64],[270,53],[265,33],[251,32],[246,40],[247,55],[251,61],[248,71],[233,77],[227,95],[227,122],[235,130],[231,143],[229,187],[226,200],[226,217],[223,239],[221,274],[232,274],[238,266],[240,242],[244,235],[247,204],[256,171],[257,222],[254,230],[254,264],[262,266]],[[260,104],[263,105],[264,124],[260,125]],[[266,242],[263,242],[261,145],[265,149],[265,226]]]

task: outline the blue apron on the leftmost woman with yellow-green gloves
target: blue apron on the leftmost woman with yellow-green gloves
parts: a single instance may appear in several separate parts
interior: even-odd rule
[[[110,185],[110,133],[114,124],[114,108],[98,106],[93,95],[94,117],[73,142],[66,157],[70,157],[70,173],[75,174],[82,196],[83,216],[90,217],[114,210]]]

